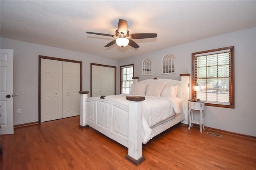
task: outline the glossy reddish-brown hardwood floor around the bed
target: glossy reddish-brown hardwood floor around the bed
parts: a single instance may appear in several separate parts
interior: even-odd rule
[[[135,166],[125,158],[126,147],[78,125],[79,117],[70,117],[2,135],[1,170],[256,169],[253,138],[176,125],[143,145],[145,161]]]

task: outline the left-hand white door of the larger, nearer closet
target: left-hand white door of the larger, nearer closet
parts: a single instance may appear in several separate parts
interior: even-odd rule
[[[41,59],[41,122],[62,118],[62,61]]]

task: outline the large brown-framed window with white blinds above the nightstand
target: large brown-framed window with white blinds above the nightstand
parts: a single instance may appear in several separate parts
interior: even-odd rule
[[[235,107],[234,46],[192,53],[192,98],[208,106]]]

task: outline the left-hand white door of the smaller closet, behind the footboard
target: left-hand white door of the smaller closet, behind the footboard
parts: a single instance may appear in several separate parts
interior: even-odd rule
[[[92,97],[104,95],[104,67],[92,65]]]

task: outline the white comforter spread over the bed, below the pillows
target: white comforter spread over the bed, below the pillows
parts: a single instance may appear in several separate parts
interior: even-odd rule
[[[128,95],[110,95],[106,96],[108,99],[113,99],[124,105],[129,105],[129,101],[126,100]],[[150,127],[157,123],[180,113],[181,99],[176,97],[152,97],[145,96],[145,100],[142,101],[142,143],[146,144],[150,138],[154,136]]]

